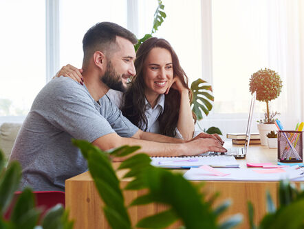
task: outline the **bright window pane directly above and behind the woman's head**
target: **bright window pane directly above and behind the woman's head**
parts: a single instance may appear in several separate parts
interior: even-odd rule
[[[166,19],[153,37],[164,38],[177,53],[189,83],[202,77],[202,36],[200,1],[163,0]],[[138,38],[150,33],[157,1],[138,1]]]

